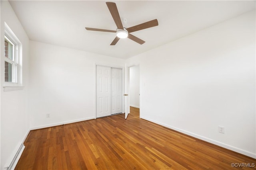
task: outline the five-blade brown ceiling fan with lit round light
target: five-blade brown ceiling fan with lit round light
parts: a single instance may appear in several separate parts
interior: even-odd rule
[[[135,41],[136,43],[143,44],[143,43],[145,43],[145,41],[143,41],[142,39],[139,39],[138,37],[135,37],[134,35],[132,35],[130,33],[158,25],[158,21],[155,19],[152,21],[141,23],[139,25],[135,25],[133,27],[125,28],[123,26],[121,18],[119,16],[119,13],[118,13],[118,10],[116,7],[116,3],[106,2],[106,4],[108,6],[108,10],[110,11],[110,14],[112,15],[112,18],[114,19],[114,21],[116,23],[116,26],[117,26],[116,31],[108,30],[108,29],[89,28],[89,27],[85,27],[85,29],[90,30],[90,31],[103,31],[103,32],[116,33],[116,38],[114,39],[114,41],[112,41],[112,43],[110,45],[116,45],[116,43],[118,42],[118,40],[120,38],[126,38],[126,37]]]

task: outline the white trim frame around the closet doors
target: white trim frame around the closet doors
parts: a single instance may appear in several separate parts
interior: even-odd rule
[[[107,65],[107,64],[95,64],[94,65],[94,103],[95,103],[95,113],[94,113],[94,119],[97,119],[97,66],[103,66],[103,67],[110,67],[110,68],[118,68],[122,70],[122,94],[125,92],[125,72],[124,67],[116,66],[116,65]],[[130,108],[130,107],[129,107]],[[125,98],[122,96],[122,113],[125,112]]]

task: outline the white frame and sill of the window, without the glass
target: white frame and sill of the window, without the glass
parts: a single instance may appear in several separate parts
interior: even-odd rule
[[[6,23],[4,24],[4,39],[8,40],[13,45],[13,60],[4,56],[4,61],[12,64],[12,82],[6,82],[4,80],[3,87],[22,87],[22,44]]]

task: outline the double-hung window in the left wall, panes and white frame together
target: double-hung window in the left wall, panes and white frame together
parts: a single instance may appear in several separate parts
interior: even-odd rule
[[[4,31],[4,86],[21,86],[22,45],[6,23]]]

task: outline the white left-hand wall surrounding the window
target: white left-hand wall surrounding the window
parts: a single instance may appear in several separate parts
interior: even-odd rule
[[[18,148],[23,143],[29,131],[28,117],[28,72],[29,72],[29,39],[16,17],[12,7],[8,1],[0,1],[1,3],[1,39],[0,39],[0,63],[1,63],[1,86],[0,86],[0,116],[1,116],[1,160],[0,169],[9,166]],[[22,43],[22,90],[3,91],[4,83],[4,22],[8,24],[10,29],[18,37]]]

